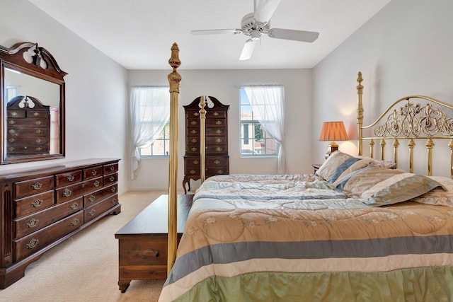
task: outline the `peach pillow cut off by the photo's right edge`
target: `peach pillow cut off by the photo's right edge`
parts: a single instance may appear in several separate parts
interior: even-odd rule
[[[413,202],[423,204],[436,204],[439,206],[453,207],[453,180],[452,178],[444,178],[442,176],[428,176],[429,178],[439,182],[442,187],[437,187],[428,193],[420,195],[412,199]]]

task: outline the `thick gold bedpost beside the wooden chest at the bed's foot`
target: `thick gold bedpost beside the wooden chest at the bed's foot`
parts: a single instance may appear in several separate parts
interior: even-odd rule
[[[181,64],[179,60],[179,48],[176,43],[171,46],[171,58],[168,64],[173,68],[173,72],[168,74],[170,84],[170,156],[168,169],[168,260],[167,275],[170,274],[173,263],[176,260],[176,249],[178,248],[177,233],[177,213],[178,192],[176,190],[176,180],[178,178],[178,97],[179,82],[181,76],[176,69]]]

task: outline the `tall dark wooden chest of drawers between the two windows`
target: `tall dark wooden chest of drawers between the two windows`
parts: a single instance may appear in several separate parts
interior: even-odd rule
[[[183,188],[190,191],[190,180],[200,179],[200,98],[185,105],[185,156]],[[205,134],[205,176],[229,174],[228,108],[213,96],[207,97]],[[211,105],[211,106],[209,106]]]

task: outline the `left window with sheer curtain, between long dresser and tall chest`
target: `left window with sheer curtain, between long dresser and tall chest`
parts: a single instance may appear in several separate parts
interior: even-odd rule
[[[170,93],[168,87],[132,87],[132,175],[140,158],[168,157]]]

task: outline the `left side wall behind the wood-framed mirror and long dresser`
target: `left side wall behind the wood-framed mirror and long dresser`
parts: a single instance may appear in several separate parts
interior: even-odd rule
[[[68,73],[66,158],[1,165],[0,172],[83,158],[122,158],[119,192],[127,190],[127,71],[26,0],[2,0],[0,45],[38,42]]]

